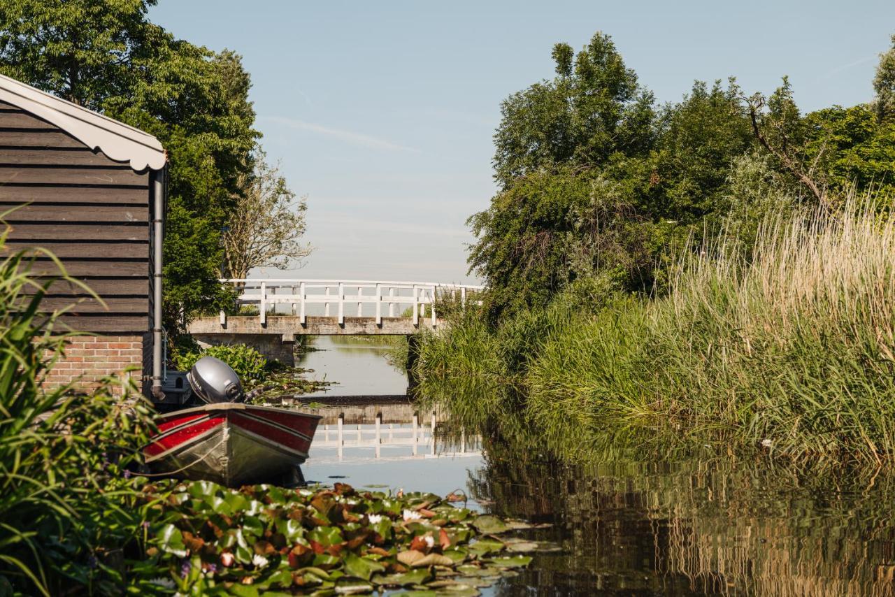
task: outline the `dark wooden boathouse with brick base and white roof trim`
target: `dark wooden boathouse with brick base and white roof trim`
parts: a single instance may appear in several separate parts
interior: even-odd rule
[[[70,283],[51,287],[46,304],[75,303],[64,323],[88,335],[73,339],[50,383],[90,384],[136,366],[144,393],[161,396],[165,172],[155,137],[0,75],[5,252],[53,252],[106,303]],[[35,273],[57,270],[38,257]]]

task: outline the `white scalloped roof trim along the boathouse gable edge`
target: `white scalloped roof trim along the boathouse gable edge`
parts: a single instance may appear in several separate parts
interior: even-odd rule
[[[0,100],[55,124],[90,149],[99,149],[107,158],[130,163],[138,172],[165,167],[165,149],[149,133],[2,74]]]

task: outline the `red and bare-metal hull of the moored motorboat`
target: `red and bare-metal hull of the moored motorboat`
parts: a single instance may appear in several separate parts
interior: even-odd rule
[[[144,448],[155,473],[228,486],[270,482],[303,463],[320,415],[219,403],[165,414]]]

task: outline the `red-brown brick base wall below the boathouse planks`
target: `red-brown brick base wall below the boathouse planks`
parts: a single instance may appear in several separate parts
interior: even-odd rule
[[[121,373],[127,367],[136,367],[131,375],[140,378],[143,370],[142,336],[76,336],[65,349],[65,358],[55,363],[47,376],[51,386],[61,385],[81,377],[84,388],[97,383],[107,375]]]

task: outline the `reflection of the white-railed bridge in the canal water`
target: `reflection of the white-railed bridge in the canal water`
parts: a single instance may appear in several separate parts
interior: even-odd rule
[[[452,430],[438,411],[421,414],[409,403],[339,405],[323,415],[311,442],[311,460],[413,460],[482,456],[482,439]]]

